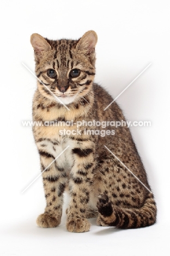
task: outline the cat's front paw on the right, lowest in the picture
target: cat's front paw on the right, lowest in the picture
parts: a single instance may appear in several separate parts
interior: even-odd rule
[[[87,232],[90,229],[90,223],[87,219],[68,219],[66,229],[70,232]]]

